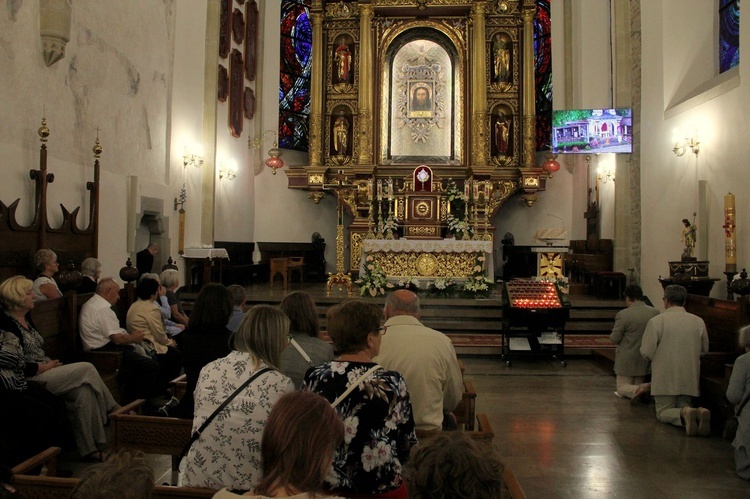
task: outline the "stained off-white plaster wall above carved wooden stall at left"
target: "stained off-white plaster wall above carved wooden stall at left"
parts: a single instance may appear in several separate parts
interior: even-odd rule
[[[39,2],[6,2],[0,14],[0,199],[24,199],[19,219],[30,220],[33,185],[28,170],[38,167],[36,130],[46,115],[51,130],[49,189],[52,226],[59,203],[81,206],[79,226],[88,223],[93,177],[91,148],[97,135],[104,149],[99,259],[117,274],[128,256],[127,176],[137,175],[154,197],[168,198],[168,93],[172,71],[174,2],[106,2],[90,8],[74,2],[71,39],[65,58],[47,67],[41,55]],[[145,195],[145,194],[144,194]]]

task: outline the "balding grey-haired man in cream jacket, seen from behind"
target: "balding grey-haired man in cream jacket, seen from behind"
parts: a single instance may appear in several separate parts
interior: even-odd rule
[[[443,414],[463,393],[461,369],[451,340],[419,322],[419,297],[400,289],[385,302],[385,334],[375,362],[406,379],[419,430],[440,430]]]

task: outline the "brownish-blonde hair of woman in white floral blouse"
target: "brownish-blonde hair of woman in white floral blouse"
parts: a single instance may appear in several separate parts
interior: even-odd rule
[[[249,353],[253,360],[263,360],[278,369],[281,351],[286,347],[289,318],[270,305],[256,305],[247,311],[234,335],[234,349]]]

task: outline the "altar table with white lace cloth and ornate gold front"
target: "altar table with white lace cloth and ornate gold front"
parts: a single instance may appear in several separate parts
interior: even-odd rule
[[[484,274],[494,280],[492,241],[365,239],[360,274],[368,256],[389,278],[451,278],[462,280],[474,273],[477,253],[484,255]]]

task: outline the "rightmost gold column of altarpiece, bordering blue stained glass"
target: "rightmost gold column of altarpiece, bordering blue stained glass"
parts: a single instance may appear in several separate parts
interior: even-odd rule
[[[534,88],[534,15],[536,4],[523,10],[523,158],[522,168],[536,166],[536,92]]]

